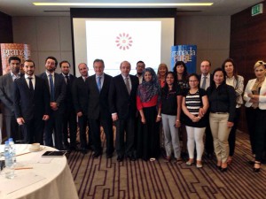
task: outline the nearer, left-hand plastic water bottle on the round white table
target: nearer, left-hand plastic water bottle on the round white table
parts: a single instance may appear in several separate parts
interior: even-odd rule
[[[4,165],[5,177],[7,179],[14,178],[14,166],[12,161],[11,148],[8,141],[4,142]]]

